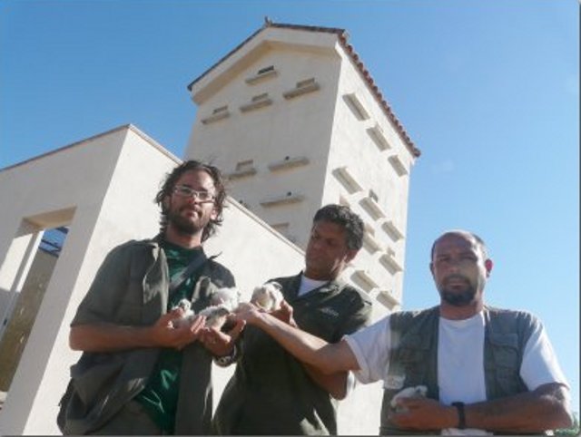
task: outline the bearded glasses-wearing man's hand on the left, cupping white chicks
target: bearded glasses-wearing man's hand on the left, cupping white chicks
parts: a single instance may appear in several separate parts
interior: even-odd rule
[[[162,315],[150,328],[153,345],[181,350],[197,340],[206,321],[205,317],[194,316],[190,323],[174,323],[182,316],[182,308],[175,308]]]

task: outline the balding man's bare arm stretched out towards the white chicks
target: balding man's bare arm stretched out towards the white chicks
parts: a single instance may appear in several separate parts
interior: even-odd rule
[[[261,312],[256,307],[248,307],[244,312],[236,314],[235,318],[261,328],[290,354],[303,363],[310,364],[321,374],[329,375],[359,369],[357,359],[345,341],[327,343],[269,313]]]

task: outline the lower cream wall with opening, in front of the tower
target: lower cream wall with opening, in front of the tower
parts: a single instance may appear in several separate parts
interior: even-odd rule
[[[35,229],[69,228],[0,411],[1,434],[59,433],[57,405],[68,382],[69,366],[80,355],[68,347],[68,326],[76,307],[111,248],[157,232],[159,216],[153,196],[164,173],[176,162],[143,132],[123,127],[0,171],[0,197],[22,205],[2,211],[6,223],[26,219],[34,222]],[[13,183],[6,184],[7,180]],[[60,189],[65,195],[58,193]],[[27,201],[19,203],[18,199]],[[15,225],[12,235],[2,235],[3,269],[18,265],[15,253],[9,253],[10,241],[6,241],[17,229]],[[245,299],[266,279],[294,275],[303,266],[300,248],[232,199],[225,209],[224,225],[207,242],[206,251],[222,252],[219,259],[231,268]],[[232,371],[214,368],[215,402]],[[377,384],[359,387],[340,405],[340,432],[376,433],[379,398]],[[360,422],[368,416],[369,420]]]

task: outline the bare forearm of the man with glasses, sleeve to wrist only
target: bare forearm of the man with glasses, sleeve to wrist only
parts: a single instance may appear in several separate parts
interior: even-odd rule
[[[151,326],[75,325],[69,345],[75,351],[114,352],[136,347],[155,347]]]

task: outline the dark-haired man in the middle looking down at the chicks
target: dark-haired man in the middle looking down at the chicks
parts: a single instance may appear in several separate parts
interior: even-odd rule
[[[317,211],[305,269],[271,281],[282,287],[284,323],[340,341],[369,321],[371,303],[340,280],[362,246],[363,223],[349,208]],[[254,326],[244,330],[241,360],[222,393],[214,419],[221,434],[336,434],[336,401],[347,393],[348,373],[326,376],[302,364]]]

